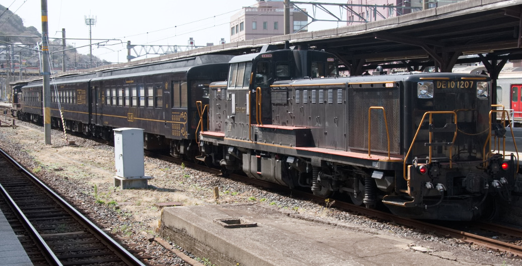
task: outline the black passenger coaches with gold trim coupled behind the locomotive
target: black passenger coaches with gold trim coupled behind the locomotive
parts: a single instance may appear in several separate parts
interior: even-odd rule
[[[51,123],[109,140],[112,129],[145,130],[146,149],[170,147],[176,156],[197,152],[199,113],[208,85],[227,78],[229,55],[201,55],[177,61],[110,69],[51,80]],[[22,88],[21,119],[42,122],[42,81]],[[189,156],[189,155],[187,155]]]

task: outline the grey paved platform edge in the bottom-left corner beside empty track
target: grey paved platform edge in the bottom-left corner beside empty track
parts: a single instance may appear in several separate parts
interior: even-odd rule
[[[7,222],[2,210],[0,210],[0,265],[33,265],[22,244],[18,241],[13,228]]]

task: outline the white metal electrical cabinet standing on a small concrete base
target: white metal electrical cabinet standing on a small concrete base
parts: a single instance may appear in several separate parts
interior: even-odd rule
[[[116,176],[143,178],[145,176],[143,129],[116,128],[113,130]]]

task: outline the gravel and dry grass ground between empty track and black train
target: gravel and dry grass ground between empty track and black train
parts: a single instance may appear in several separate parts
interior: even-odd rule
[[[69,146],[64,134],[52,130],[52,145],[44,144],[43,128],[17,121],[18,127],[0,128],[0,148],[53,187],[80,211],[124,245],[148,265],[188,265],[156,241],[161,209],[157,202],[182,202],[184,205],[256,202],[265,208],[295,211],[319,217],[330,223],[360,226],[362,230],[406,238],[413,246],[428,248],[433,256],[451,252],[462,261],[482,265],[522,265],[509,253],[495,252],[413,231],[393,223],[326,208],[325,204],[281,196],[255,186],[235,182],[215,174],[188,169],[182,165],[155,158],[145,158],[148,189],[121,190],[114,187],[114,148],[103,143],[67,136],[77,146]],[[213,187],[219,187],[220,198],[213,198]],[[175,243],[171,243],[175,246]],[[412,252],[414,251],[412,249]],[[442,253],[441,253],[442,252]],[[187,253],[187,255],[194,257]],[[444,256],[446,257],[446,256]],[[451,259],[449,256],[448,259]],[[206,265],[212,265],[201,258]]]

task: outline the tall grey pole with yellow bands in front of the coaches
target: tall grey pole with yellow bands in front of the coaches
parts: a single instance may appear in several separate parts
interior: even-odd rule
[[[43,132],[45,144],[51,145],[51,90],[49,89],[49,27],[47,19],[47,0],[42,1],[42,75],[43,75]]]

